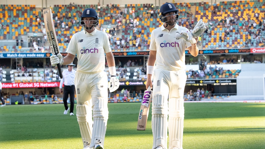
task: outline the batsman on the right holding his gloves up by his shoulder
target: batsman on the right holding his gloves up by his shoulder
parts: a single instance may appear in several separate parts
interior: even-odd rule
[[[187,47],[191,55],[196,57],[199,53],[197,37],[206,28],[202,20],[197,23],[192,33],[187,28],[177,25],[179,14],[172,3],[165,3],[160,7],[159,18],[163,25],[151,33],[147,64],[146,88],[153,86],[152,149],[183,149],[183,96],[187,80],[185,49]]]

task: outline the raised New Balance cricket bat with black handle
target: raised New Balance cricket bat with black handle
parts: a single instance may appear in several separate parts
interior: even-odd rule
[[[45,29],[46,29],[49,45],[51,48],[51,53],[53,55],[54,54],[57,55],[58,53],[60,53],[60,51],[58,48],[58,41],[57,41],[55,29],[54,29],[53,13],[50,8],[43,10],[43,19],[45,23]],[[57,68],[58,68],[59,76],[62,79],[63,75],[62,75],[60,64],[57,64]]]

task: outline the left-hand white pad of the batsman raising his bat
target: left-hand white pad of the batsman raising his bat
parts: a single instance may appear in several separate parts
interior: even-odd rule
[[[77,104],[76,117],[79,124],[84,147],[91,142],[92,134],[92,109],[86,104]]]

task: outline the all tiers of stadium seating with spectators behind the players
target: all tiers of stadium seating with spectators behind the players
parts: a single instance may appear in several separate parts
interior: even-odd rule
[[[208,2],[203,4],[201,2],[175,4],[178,6],[180,13],[179,25],[192,29],[200,18],[206,23],[207,31],[202,35],[202,46],[199,46],[200,49],[264,47],[265,3],[263,0],[225,1],[214,5],[210,5]],[[98,29],[102,28],[104,29],[103,31],[109,33],[110,43],[114,52],[148,51],[151,32],[161,25],[157,16],[159,7],[152,7],[152,4],[125,4],[124,7],[106,5],[100,8],[97,5],[54,5],[53,19],[57,25],[56,33],[61,52],[65,52],[67,49],[68,41],[72,35],[81,30],[79,19],[82,10],[85,8],[95,8],[97,10],[100,18]],[[69,13],[71,17],[68,17]],[[0,29],[0,41],[2,41],[0,43],[0,53],[40,51],[49,53],[49,45],[42,38],[44,25],[41,8],[37,8],[35,5],[0,5],[0,20],[2,25]],[[57,20],[60,20],[59,24],[57,24]],[[69,22],[72,22],[72,24],[69,24]],[[65,24],[64,28],[62,28],[62,23]],[[114,29],[109,29],[107,26],[111,26]],[[40,42],[43,43],[41,44],[42,50],[34,50],[32,46],[33,40],[30,38],[23,38],[25,42],[23,46],[15,44],[16,40],[20,41],[25,36],[27,38],[27,33],[41,34],[41,36],[38,36],[41,38]],[[125,40],[125,45],[117,46],[116,41],[122,39]],[[12,43],[6,44],[4,43],[6,41],[12,41]],[[42,80],[42,76],[38,74],[43,74],[42,69],[38,69],[38,72],[32,73],[30,77],[28,76],[29,74],[22,76],[22,74],[17,73],[17,70],[13,69],[13,73],[5,72],[2,74],[2,81],[17,83],[53,82],[59,80],[58,76],[53,75],[52,72]],[[121,71],[117,69],[118,72]],[[239,76],[241,70],[224,69],[220,72],[218,69],[212,70],[212,73],[210,73],[208,69],[204,77],[196,76],[199,72],[199,70],[192,71],[192,75],[188,79],[235,79]],[[145,74],[135,73],[131,69],[128,75],[126,73],[121,80],[145,80]],[[225,96],[213,96],[210,99],[223,99],[223,97]],[[59,99],[57,102],[56,100],[53,102],[59,103]],[[126,101],[137,102],[141,101],[141,99],[133,98]],[[116,99],[111,97],[109,102],[124,102],[124,99],[121,96],[117,96]],[[36,103],[44,102],[41,99],[36,99],[33,104]],[[45,101],[45,103],[51,102]]]

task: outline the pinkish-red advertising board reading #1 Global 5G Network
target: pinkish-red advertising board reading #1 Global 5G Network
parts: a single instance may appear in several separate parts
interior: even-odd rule
[[[60,82],[2,83],[2,88],[53,88],[59,86]]]

